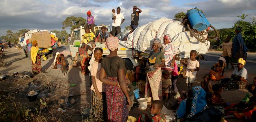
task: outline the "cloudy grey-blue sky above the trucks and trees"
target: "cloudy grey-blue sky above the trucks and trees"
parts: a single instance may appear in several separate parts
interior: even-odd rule
[[[95,23],[111,24],[112,9],[121,8],[125,22],[130,25],[132,7],[142,9],[139,26],[161,17],[174,18],[174,14],[197,7],[202,9],[216,28],[230,28],[239,20],[237,15],[248,14],[246,21],[256,16],[256,0],[0,0],[0,36],[7,30],[19,29],[62,30],[68,16],[84,17],[90,10]],[[70,30],[67,29],[69,32]]]

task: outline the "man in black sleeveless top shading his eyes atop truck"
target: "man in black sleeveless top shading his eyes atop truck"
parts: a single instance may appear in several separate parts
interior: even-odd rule
[[[133,12],[132,12],[132,15],[131,15],[131,29],[136,29],[138,27],[138,24],[139,24],[139,13],[142,12],[141,9],[137,8],[137,6],[133,6]],[[139,11],[136,11],[136,10],[139,10]]]

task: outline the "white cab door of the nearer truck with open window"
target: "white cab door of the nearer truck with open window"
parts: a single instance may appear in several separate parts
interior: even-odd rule
[[[74,30],[71,35],[69,49],[72,57],[76,56],[78,48],[80,47],[80,30]]]

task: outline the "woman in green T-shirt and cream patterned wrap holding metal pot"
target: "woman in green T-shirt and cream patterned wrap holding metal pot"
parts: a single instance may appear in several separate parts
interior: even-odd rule
[[[154,66],[155,71],[146,73],[145,97],[152,96],[153,100],[160,100],[162,97],[162,71],[164,67],[164,53],[160,51],[162,44],[156,40],[152,44],[152,51],[149,53],[147,67]],[[152,95],[150,94],[152,93]]]

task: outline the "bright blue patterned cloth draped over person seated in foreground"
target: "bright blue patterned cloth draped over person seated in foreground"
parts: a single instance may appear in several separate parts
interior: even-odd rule
[[[205,95],[206,92],[204,91],[204,89],[201,86],[195,86],[192,88],[193,90],[193,100],[192,100],[192,104],[191,104],[191,111],[190,113],[185,116],[185,112],[186,112],[186,101],[187,99],[181,101],[179,109],[176,112],[176,115],[178,118],[191,118],[193,117],[195,114],[201,112],[202,110],[205,110],[207,108],[206,105],[206,101],[205,101]]]

